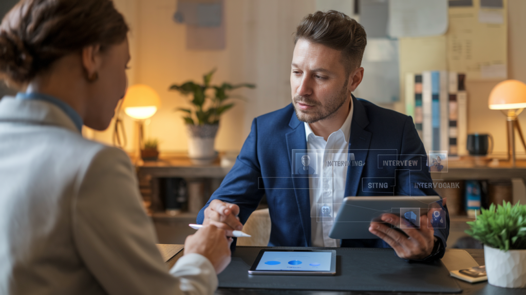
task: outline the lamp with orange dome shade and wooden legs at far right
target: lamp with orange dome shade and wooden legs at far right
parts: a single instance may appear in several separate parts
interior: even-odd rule
[[[526,150],[517,116],[526,108],[526,84],[518,80],[505,80],[493,87],[488,101],[490,109],[500,109],[507,116],[508,161],[515,167],[515,129]]]

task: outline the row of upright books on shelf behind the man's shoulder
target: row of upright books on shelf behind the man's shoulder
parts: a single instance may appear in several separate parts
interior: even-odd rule
[[[426,151],[466,155],[466,75],[446,71],[406,74],[406,113],[413,117]]]

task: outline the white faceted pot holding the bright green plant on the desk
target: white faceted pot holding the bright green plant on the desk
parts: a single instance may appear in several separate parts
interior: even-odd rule
[[[504,288],[526,288],[526,250],[504,252],[484,245],[488,282]]]

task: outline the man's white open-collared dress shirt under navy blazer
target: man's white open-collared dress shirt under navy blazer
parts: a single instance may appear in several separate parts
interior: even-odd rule
[[[332,220],[345,197],[345,184],[347,179],[347,166],[339,166],[340,161],[349,161],[349,138],[351,134],[352,111],[340,129],[333,132],[327,141],[317,136],[305,124],[305,135],[307,137],[307,149],[309,154],[317,154],[317,176],[309,177],[310,216],[311,216],[311,239],[312,247],[339,247],[340,241],[329,238]],[[327,161],[335,163],[328,165]],[[338,161],[338,162],[332,162]],[[322,207],[329,207],[330,212],[322,215]],[[321,217],[326,216],[326,217]],[[327,217],[329,216],[329,217]]]

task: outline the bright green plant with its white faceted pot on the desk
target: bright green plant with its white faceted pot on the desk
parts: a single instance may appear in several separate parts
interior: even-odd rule
[[[488,282],[505,288],[526,288],[526,205],[503,202],[482,209],[466,233],[484,244]]]

